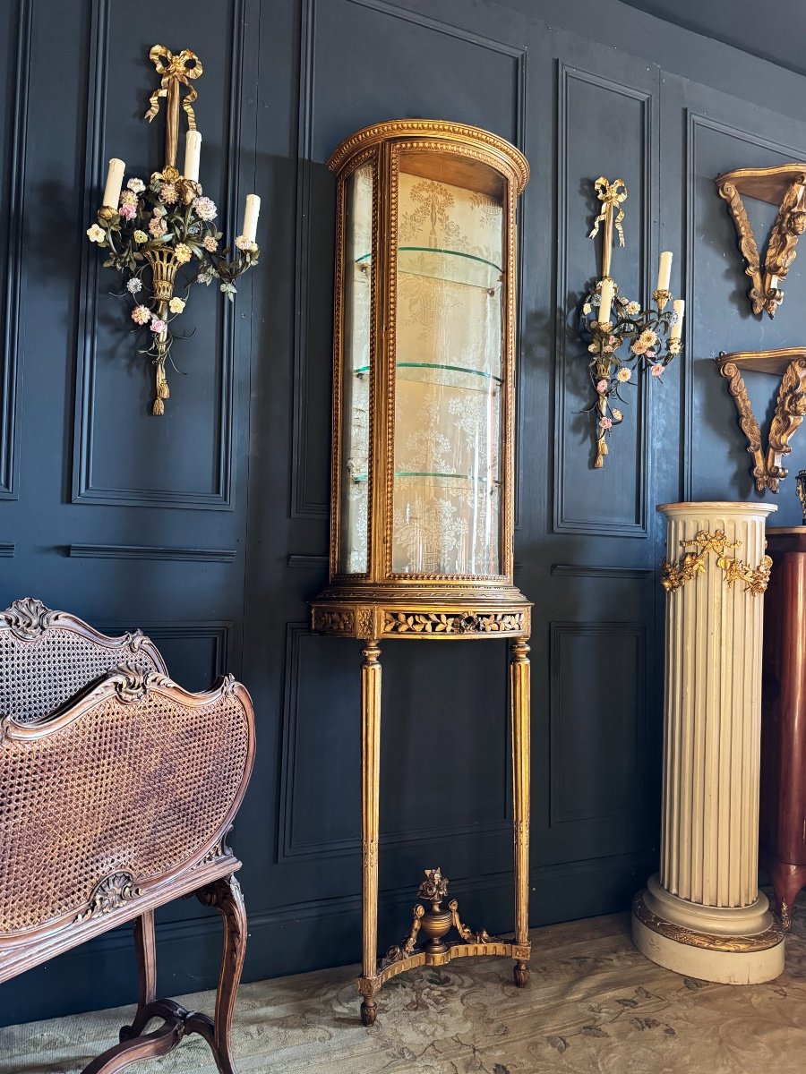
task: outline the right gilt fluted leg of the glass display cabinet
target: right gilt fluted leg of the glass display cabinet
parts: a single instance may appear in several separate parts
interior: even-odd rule
[[[513,807],[515,825],[515,942],[529,941],[529,732],[530,667],[527,638],[513,644],[509,665],[513,721]],[[515,984],[529,982],[529,962],[515,963]]]

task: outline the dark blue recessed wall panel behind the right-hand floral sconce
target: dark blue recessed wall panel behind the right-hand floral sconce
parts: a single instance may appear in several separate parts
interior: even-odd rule
[[[595,426],[585,412],[593,389],[590,355],[579,335],[578,304],[602,268],[601,230],[594,241],[589,238],[601,207],[593,190],[600,175],[611,183],[620,178],[628,189],[627,245],[621,249],[616,235],[611,274],[622,295],[642,305],[649,301],[649,281],[657,267],[650,264],[657,197],[653,95],[651,89],[619,84],[562,62],[558,79],[555,531],[645,537],[650,471],[646,383],[633,377],[624,387],[624,421],[608,438],[611,454],[604,468],[594,470]]]

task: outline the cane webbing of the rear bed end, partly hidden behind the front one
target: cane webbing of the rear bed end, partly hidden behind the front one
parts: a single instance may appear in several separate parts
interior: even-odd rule
[[[0,625],[0,715],[20,724],[47,716],[123,662],[161,670],[143,649],[107,647],[60,626],[24,641]]]

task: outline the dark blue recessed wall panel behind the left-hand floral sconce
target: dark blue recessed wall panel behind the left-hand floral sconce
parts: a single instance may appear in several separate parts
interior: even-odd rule
[[[172,19],[170,10],[155,0],[139,10],[139,19],[160,26],[165,40],[185,40],[187,30],[178,11]],[[227,87],[225,92],[216,92],[211,86],[205,92],[208,83],[202,75],[193,107],[198,129],[203,132],[201,180],[205,193],[216,201],[221,230],[232,240],[240,159],[243,0],[231,4],[202,0],[195,9],[193,21],[195,50],[207,69],[219,69]],[[131,33],[125,9],[103,0],[87,70],[88,221],[98,208],[110,157],[125,155],[127,177],[145,180],[164,160],[164,99],[160,99],[153,124],[142,119],[149,95],[159,85],[159,75],[156,69],[149,73],[144,55],[147,48],[140,34]],[[184,112],[182,117],[179,160],[186,130]],[[176,338],[167,366],[172,395],[164,416],[155,418],[154,366],[147,354],[140,353],[148,346],[146,333],[131,331],[132,302],[128,295],[116,296],[124,291],[125,279],[103,268],[102,260],[97,247],[85,247],[73,499],[226,509],[231,496],[234,307],[215,285],[190,286],[186,309],[172,324]],[[184,282],[177,294],[185,296],[185,282],[193,275],[195,270],[181,272]]]

